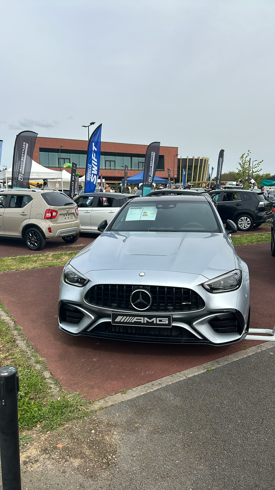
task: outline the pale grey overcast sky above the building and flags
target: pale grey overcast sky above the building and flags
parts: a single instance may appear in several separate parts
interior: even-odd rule
[[[275,173],[274,0],[2,0],[1,168],[16,134],[179,147]]]

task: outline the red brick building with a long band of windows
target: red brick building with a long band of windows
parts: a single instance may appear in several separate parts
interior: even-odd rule
[[[149,142],[150,143],[150,142]],[[52,170],[63,168],[65,163],[76,163],[77,172],[85,174],[88,141],[62,138],[36,139],[33,160]],[[147,145],[101,142],[100,171],[105,182],[121,182],[124,166],[128,165],[128,177],[141,172]],[[160,147],[159,164],[156,175],[167,178],[167,169],[178,172],[178,147]]]

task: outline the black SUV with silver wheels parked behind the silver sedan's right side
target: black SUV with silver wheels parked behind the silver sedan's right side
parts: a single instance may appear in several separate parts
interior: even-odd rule
[[[272,218],[272,205],[259,189],[224,189],[211,191],[209,196],[215,199],[222,221],[234,221],[240,231],[249,231]]]

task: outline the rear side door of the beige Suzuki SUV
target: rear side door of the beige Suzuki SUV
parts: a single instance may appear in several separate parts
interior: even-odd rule
[[[5,235],[21,237],[22,228],[30,219],[32,197],[23,194],[9,195],[9,201],[3,213]]]

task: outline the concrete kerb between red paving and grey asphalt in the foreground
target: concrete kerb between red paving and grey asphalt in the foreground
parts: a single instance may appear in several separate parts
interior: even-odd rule
[[[215,361],[210,361],[205,364],[201,364],[200,366],[196,366],[195,368],[186,369],[185,371],[180,371],[175,374],[170,374],[169,376],[165,376],[164,378],[157,379],[156,381],[151,381],[150,383],[146,383],[145,385],[138,386],[137,388],[132,388],[127,391],[127,393],[117,393],[115,395],[107,396],[101,400],[97,400],[92,404],[92,410],[99,410],[106,407],[110,407],[112,405],[116,405],[123,401],[131,400],[132,398],[136,398],[137,396],[143,395],[145,393],[153,392],[158,390],[159,388],[163,388],[167,385],[171,385],[173,383],[177,383],[178,381],[182,381],[183,379],[190,378],[192,376],[196,376],[197,374],[201,374],[207,370],[212,370],[215,368],[220,368],[221,366],[225,366],[226,364],[232,363],[234,361],[238,361],[239,359],[243,359],[244,357],[251,356],[256,354],[257,352],[261,352],[266,349],[270,349],[275,346],[275,342],[264,342],[259,345],[255,345],[245,350],[241,350],[239,352],[235,352],[234,354],[229,354],[229,356],[221,357],[220,359],[216,359]]]

